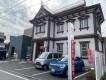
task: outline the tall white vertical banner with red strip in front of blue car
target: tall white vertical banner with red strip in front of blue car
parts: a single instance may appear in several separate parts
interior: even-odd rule
[[[75,56],[75,45],[74,44],[74,27],[70,22],[68,26],[68,80],[73,80],[75,75],[74,69],[74,56]]]

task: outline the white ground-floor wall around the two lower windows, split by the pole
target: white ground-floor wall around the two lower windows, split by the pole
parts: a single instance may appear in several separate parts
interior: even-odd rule
[[[76,39],[75,42],[75,53],[76,53],[76,56],[81,56],[80,55],[80,42],[81,41],[89,41],[89,48],[95,50],[95,40],[94,38],[88,38],[88,39]],[[57,43],[63,43],[63,55],[66,55],[68,53],[68,46],[67,46],[67,43],[68,41],[67,40],[63,40],[63,41],[55,41],[55,47],[54,47],[54,50],[57,51]]]

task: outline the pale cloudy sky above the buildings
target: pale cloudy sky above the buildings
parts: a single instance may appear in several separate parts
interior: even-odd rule
[[[42,0],[43,5],[52,10],[58,10],[68,4],[81,0]],[[106,19],[106,0],[86,0],[87,6],[101,3]],[[64,5],[63,5],[64,4]],[[10,35],[22,35],[23,31],[33,25],[33,19],[41,6],[41,0],[0,0],[0,32],[4,32],[9,42]],[[102,35],[106,36],[106,21],[102,24]]]

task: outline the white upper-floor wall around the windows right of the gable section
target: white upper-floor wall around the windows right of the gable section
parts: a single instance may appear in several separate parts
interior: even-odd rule
[[[90,13],[88,14],[89,15],[89,18],[88,18],[88,27],[89,29],[83,29],[80,31],[80,21],[78,20],[78,17],[75,18],[75,23],[74,23],[74,26],[75,26],[75,36],[78,36],[78,35],[86,35],[86,34],[94,34],[94,24],[93,24],[93,14]],[[57,25],[56,25],[56,28],[55,28],[55,38],[59,38],[59,37],[67,37],[67,22],[64,21],[64,32],[63,33],[57,33]],[[69,27],[69,26],[68,26]]]

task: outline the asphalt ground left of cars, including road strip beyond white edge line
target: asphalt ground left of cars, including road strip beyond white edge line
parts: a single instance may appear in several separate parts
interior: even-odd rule
[[[0,61],[0,80],[66,80],[49,71],[37,70],[26,62]]]

